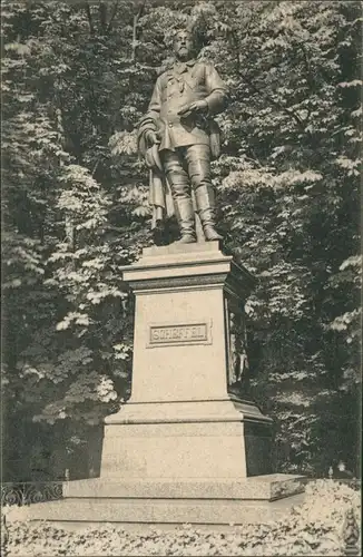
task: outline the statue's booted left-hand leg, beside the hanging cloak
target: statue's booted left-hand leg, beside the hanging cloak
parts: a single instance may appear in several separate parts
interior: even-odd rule
[[[196,242],[195,217],[190,195],[189,177],[183,167],[178,153],[163,152],[163,164],[168,183],[170,184],[176,217],[180,228],[183,244]]]

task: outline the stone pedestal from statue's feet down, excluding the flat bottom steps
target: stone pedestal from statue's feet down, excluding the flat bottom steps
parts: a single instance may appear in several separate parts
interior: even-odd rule
[[[271,473],[271,419],[228,393],[229,314],[254,278],[217,242],[144,250],[131,398],[106,419],[101,477],[242,479]]]

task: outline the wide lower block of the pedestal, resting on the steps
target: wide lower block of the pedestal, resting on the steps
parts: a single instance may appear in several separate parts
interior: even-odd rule
[[[271,470],[271,419],[253,403],[128,402],[106,419],[101,477],[245,478]]]

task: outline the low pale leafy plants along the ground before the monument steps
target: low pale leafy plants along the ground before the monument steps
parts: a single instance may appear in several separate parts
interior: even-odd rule
[[[361,516],[361,495],[331,480],[306,487],[305,502],[283,520],[203,531],[190,525],[173,531],[145,528],[143,534],[112,525],[72,532],[47,522],[9,524],[9,556],[341,556],[344,516]]]

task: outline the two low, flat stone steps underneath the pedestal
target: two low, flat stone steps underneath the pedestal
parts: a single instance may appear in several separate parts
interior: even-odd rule
[[[32,505],[28,519],[119,526],[228,526],[278,520],[303,501],[300,476],[269,475],[242,480],[70,481],[65,499]]]

